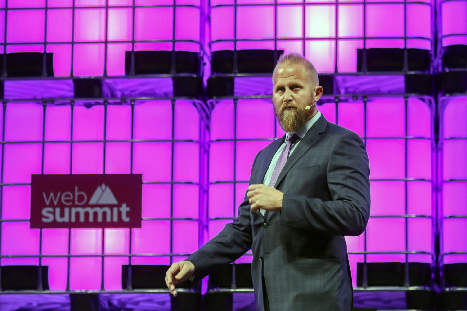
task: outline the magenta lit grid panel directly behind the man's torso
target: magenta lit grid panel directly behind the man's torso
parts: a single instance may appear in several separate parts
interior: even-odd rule
[[[417,97],[324,98],[328,121],[366,143],[371,216],[367,230],[346,237],[352,279],[357,262],[434,263],[433,103]],[[256,153],[284,132],[269,98],[217,100],[209,150],[209,237],[237,215]],[[467,107],[467,105],[466,105]],[[254,122],[251,116],[255,116]],[[251,255],[239,262],[251,262]]]

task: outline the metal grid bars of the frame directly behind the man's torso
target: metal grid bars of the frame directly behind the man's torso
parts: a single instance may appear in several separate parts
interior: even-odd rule
[[[367,130],[367,103],[369,100],[372,98],[391,98],[391,97],[397,97],[397,98],[403,98],[404,99],[404,106],[405,106],[405,123],[404,123],[404,131],[405,135],[403,137],[368,137],[366,134]],[[407,117],[407,107],[408,107],[408,100],[409,98],[417,98],[422,101],[424,101],[430,108],[430,123],[431,123],[431,137],[413,137],[413,136],[408,136],[408,117]],[[234,139],[216,139],[216,140],[211,140],[209,144],[213,142],[220,142],[220,141],[233,141],[234,142],[234,179],[229,180],[229,181],[221,181],[221,180],[209,180],[208,185],[213,185],[213,184],[221,184],[221,183],[227,183],[227,184],[233,184],[234,187],[234,202],[233,202],[233,217],[209,217],[207,218],[207,222],[209,224],[210,221],[216,221],[216,220],[234,220],[236,215],[237,215],[237,206],[235,204],[235,198],[236,198],[236,187],[235,185],[238,183],[248,183],[248,180],[237,180],[236,178],[236,145],[237,142],[239,141],[272,141],[275,138],[237,138],[237,122],[236,122],[236,117],[237,117],[237,103],[239,99],[266,99],[270,100],[270,96],[233,96],[233,97],[218,97],[216,99],[209,100],[208,102],[211,102],[213,106],[216,105],[216,102],[219,102],[221,100],[233,100],[234,101]],[[361,254],[364,256],[364,263],[367,263],[367,255],[368,254],[404,254],[405,256],[405,273],[404,273],[404,287],[390,287],[389,290],[400,290],[400,289],[424,289],[423,287],[416,287],[416,286],[409,286],[409,255],[411,254],[426,254],[426,255],[431,255],[432,259],[432,265],[436,265],[436,254],[435,254],[435,241],[433,239],[432,241],[432,251],[431,252],[425,252],[425,251],[409,251],[408,249],[408,219],[409,218],[428,218],[431,219],[432,222],[432,228],[433,228],[433,234],[436,231],[437,228],[437,219],[436,219],[436,193],[433,191],[432,192],[432,206],[431,206],[431,216],[428,215],[413,215],[408,213],[408,199],[407,199],[407,193],[408,193],[408,183],[413,182],[413,181],[424,181],[424,182],[430,182],[431,183],[431,188],[433,190],[436,189],[436,169],[435,169],[435,164],[436,164],[436,159],[432,158],[431,159],[431,179],[424,179],[424,178],[408,178],[407,173],[408,173],[408,164],[407,164],[407,144],[410,139],[417,139],[417,140],[429,140],[431,141],[431,149],[435,150],[435,129],[434,129],[434,120],[435,120],[435,109],[434,109],[434,99],[429,97],[429,96],[418,96],[418,95],[409,95],[409,94],[399,94],[399,95],[365,95],[365,94],[351,94],[351,95],[335,95],[335,96],[328,96],[328,95],[323,95],[321,101],[325,102],[333,102],[335,104],[335,113],[336,113],[336,124],[339,124],[338,122],[338,105],[340,100],[343,99],[350,99],[350,100],[358,100],[361,99],[363,101],[363,111],[364,111],[364,136],[362,137],[365,145],[368,140],[376,140],[376,139],[404,139],[405,141],[405,167],[404,167],[404,178],[402,179],[370,179],[370,181],[403,181],[405,186],[405,203],[404,203],[404,210],[405,213],[403,215],[370,215],[370,218],[403,218],[405,221],[405,251],[368,251],[367,250],[367,233],[366,230],[363,233],[364,235],[364,250],[363,251],[349,251],[349,254]],[[272,105],[272,103],[271,103]],[[272,107],[271,107],[272,109]],[[318,110],[319,110],[319,104],[318,104]],[[274,133],[277,133],[277,123],[274,120]],[[208,203],[208,212],[209,212],[209,203]],[[247,253],[246,255],[251,255],[251,253]],[[368,288],[368,281],[367,281],[367,273],[366,273],[366,265],[364,266],[363,270],[363,286],[362,287],[357,287],[354,288],[355,290],[366,290]],[[370,287],[371,288],[371,287]]]

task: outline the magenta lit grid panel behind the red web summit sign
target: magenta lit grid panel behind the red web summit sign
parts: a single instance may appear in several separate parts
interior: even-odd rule
[[[196,100],[3,104],[1,265],[47,265],[51,290],[117,290],[122,265],[168,265],[198,249],[207,201],[200,111]],[[40,173],[142,174],[141,228],[30,229],[31,174]]]

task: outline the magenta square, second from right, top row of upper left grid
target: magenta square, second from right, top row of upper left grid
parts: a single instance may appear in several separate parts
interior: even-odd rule
[[[135,40],[172,39],[173,8],[136,8],[135,20]]]

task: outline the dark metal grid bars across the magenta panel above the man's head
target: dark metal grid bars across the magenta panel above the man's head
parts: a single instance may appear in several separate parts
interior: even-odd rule
[[[435,12],[434,12],[434,5],[433,3],[426,2],[426,1],[408,1],[408,0],[402,0],[398,2],[388,2],[384,0],[380,1],[368,1],[368,0],[362,0],[362,1],[343,1],[340,2],[341,0],[334,0],[333,2],[305,2],[305,0],[301,0],[300,2],[294,2],[294,3],[278,3],[277,0],[274,0],[273,3],[242,3],[239,4],[237,3],[237,0],[234,0],[234,4],[217,4],[217,5],[211,5],[210,9],[212,10],[213,8],[219,8],[219,7],[234,7],[234,39],[217,39],[217,40],[211,40],[208,42],[208,46],[210,51],[212,51],[212,44],[217,43],[217,42],[233,42],[234,43],[234,51],[237,51],[237,42],[241,41],[273,41],[274,42],[274,51],[277,50],[277,42],[278,41],[301,41],[302,42],[302,55],[305,55],[305,43],[307,41],[321,41],[321,40],[333,40],[335,41],[334,44],[334,74],[340,73],[338,71],[338,42],[339,41],[345,41],[345,40],[356,40],[360,39],[363,40],[363,53],[362,53],[362,72],[358,73],[352,73],[352,72],[344,72],[343,74],[346,75],[351,75],[351,74],[367,74],[367,62],[366,62],[366,43],[368,39],[403,39],[404,40],[404,58],[403,58],[403,72],[408,72],[408,55],[407,55],[407,40],[408,39],[420,39],[420,40],[426,40],[430,43],[431,46],[431,60],[434,59],[434,38],[436,35],[436,28],[435,28],[435,23],[434,23],[434,17],[435,17]],[[431,2],[435,0],[430,0]],[[258,1],[259,2],[259,1]],[[404,35],[400,37],[369,37],[366,34],[366,7],[367,5],[382,5],[382,4],[403,4],[404,5]],[[430,38],[427,37],[419,37],[419,36],[408,36],[407,35],[407,5],[408,4],[420,4],[420,5],[427,5],[430,7],[430,19],[433,21],[431,23],[431,29],[430,29]],[[305,8],[307,6],[316,6],[316,5],[334,5],[335,10],[334,10],[334,35],[330,37],[306,37],[305,36],[305,29],[306,29],[306,18],[305,18]],[[338,35],[338,26],[339,26],[339,15],[338,15],[338,7],[340,5],[363,5],[363,14],[362,14],[362,23],[363,23],[363,35],[362,36],[343,36],[340,37]],[[237,38],[237,8],[238,7],[267,7],[267,6],[273,6],[274,7],[274,37],[273,38],[268,38],[268,39],[238,39]],[[277,37],[277,25],[278,25],[278,20],[277,20],[277,8],[280,6],[301,6],[302,7],[302,37],[300,38],[278,38]],[[234,72],[237,72],[237,58],[236,58],[236,53],[234,53]],[[411,71],[414,72],[414,71]],[[389,74],[394,74],[394,72],[388,72]],[[342,73],[341,73],[342,74]],[[371,73],[370,73],[371,74]]]

